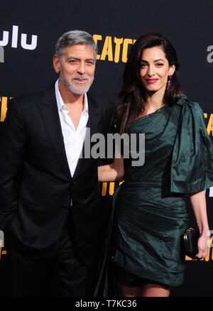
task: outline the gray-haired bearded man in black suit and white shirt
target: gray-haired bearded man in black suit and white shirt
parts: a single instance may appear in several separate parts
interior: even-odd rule
[[[102,236],[99,159],[81,155],[87,130],[106,137],[114,113],[87,93],[96,55],[89,33],[65,33],[53,57],[59,80],[9,102],[0,150],[9,295],[92,295]]]

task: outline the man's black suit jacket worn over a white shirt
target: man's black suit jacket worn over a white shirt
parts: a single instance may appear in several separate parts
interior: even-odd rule
[[[87,97],[87,127],[91,135],[103,133],[107,138],[114,106]],[[80,158],[74,176],[70,175],[55,84],[12,99],[1,136],[0,229],[26,256],[45,256],[57,249],[70,213],[80,257],[92,264],[99,252],[102,227],[99,160]]]

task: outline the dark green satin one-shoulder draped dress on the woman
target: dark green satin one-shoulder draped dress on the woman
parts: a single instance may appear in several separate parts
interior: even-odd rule
[[[138,278],[180,285],[185,193],[213,185],[212,142],[202,109],[182,95],[173,107],[134,121],[126,133],[145,133],[145,163],[132,166],[133,159],[124,159],[124,182],[114,197],[113,261]]]

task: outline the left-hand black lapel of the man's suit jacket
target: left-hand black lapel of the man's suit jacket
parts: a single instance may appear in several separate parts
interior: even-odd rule
[[[55,97],[55,83],[51,84],[43,93],[40,103],[38,104],[40,114],[48,132],[48,136],[52,143],[55,155],[67,178],[72,179],[70,168],[67,163],[67,156],[65,152],[65,145],[62,136],[62,129],[60,125],[60,118],[58,114],[58,105]]]

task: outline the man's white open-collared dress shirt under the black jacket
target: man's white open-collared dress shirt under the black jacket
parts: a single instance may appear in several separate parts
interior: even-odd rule
[[[58,113],[60,116],[60,124],[62,128],[62,135],[65,143],[65,152],[67,155],[67,162],[70,168],[70,173],[73,177],[77,161],[80,158],[82,147],[84,144],[84,138],[87,130],[88,114],[88,102],[87,94],[84,94],[84,109],[80,116],[80,121],[75,129],[72,119],[68,116],[69,109],[65,106],[60,96],[58,89],[58,80],[55,82],[55,96],[58,104]]]

